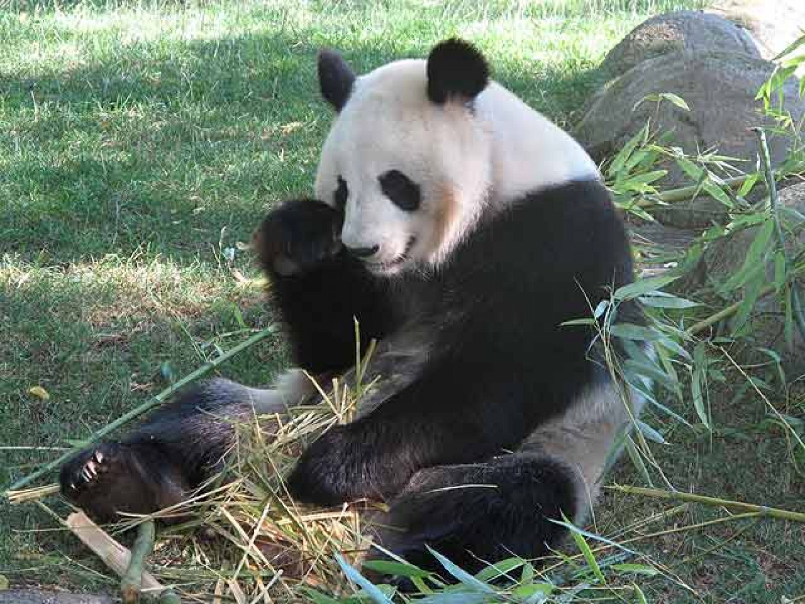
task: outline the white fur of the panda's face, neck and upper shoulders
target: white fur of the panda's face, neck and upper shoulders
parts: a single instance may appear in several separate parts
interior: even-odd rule
[[[332,204],[338,177],[347,182],[341,239],[353,248],[378,246],[367,259],[378,272],[436,267],[487,209],[598,176],[576,140],[497,83],[471,108],[434,104],[426,67],[424,60],[398,60],[357,78],[321,152],[316,197]],[[418,212],[384,196],[378,175],[391,169],[422,188]],[[403,253],[406,262],[390,266]]]

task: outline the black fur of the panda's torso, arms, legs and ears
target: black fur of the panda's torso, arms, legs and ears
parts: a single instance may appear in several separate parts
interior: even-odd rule
[[[486,78],[451,73],[434,85],[435,102]],[[337,80],[322,87],[340,109],[350,90]],[[254,238],[295,363],[313,374],[349,370],[353,317],[364,343],[423,329],[427,356],[407,385],[310,445],[287,477],[291,494],[319,506],[386,500],[386,523],[403,530],[383,533],[383,544],[422,565],[433,563],[426,544],[468,569],[544,554],[562,532],[549,519],[578,518],[588,493],[529,436],[609,383],[591,359],[595,330],[562,324],[590,316],[633,278],[605,186],[590,178],[527,192],[482,216],[439,266],[390,277],[338,245],[343,220],[322,201],[289,201]],[[639,321],[628,303],[620,313]],[[179,503],[220,468],[231,420],[251,412],[250,389],[202,383],[64,465],[62,490],[101,520]]]

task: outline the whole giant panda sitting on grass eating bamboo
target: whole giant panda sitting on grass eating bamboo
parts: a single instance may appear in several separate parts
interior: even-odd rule
[[[639,395],[622,396],[591,315],[633,279],[625,227],[574,139],[489,81],[448,39],[356,77],[320,52],[336,112],[313,198],[268,214],[254,249],[295,365],[270,389],[213,379],[61,470],[101,520],[179,503],[221,468],[232,420],[315,399],[302,370],[345,375],[378,341],[357,419],[287,476],[300,503],[389,504],[391,552],[466,569],[543,555],[577,522]],[[638,308],[619,316],[640,321]]]

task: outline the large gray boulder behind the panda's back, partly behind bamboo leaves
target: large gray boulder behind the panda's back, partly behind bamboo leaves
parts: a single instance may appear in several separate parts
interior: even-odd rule
[[[654,131],[670,132],[671,143],[687,153],[716,149],[721,155],[745,160],[741,167],[751,170],[758,156],[758,141],[749,128],[773,124],[754,98],[773,70],[773,63],[740,53],[679,51],[644,60],[593,95],[576,126],[576,138],[601,161],[616,153],[651,118]],[[657,93],[679,95],[690,110],[667,101],[659,110],[654,102],[638,105]],[[799,98],[795,81],[786,86],[784,96],[786,109],[801,118],[805,101]],[[772,162],[778,163],[785,158],[790,139],[770,135],[769,142]],[[663,189],[691,184],[675,164],[664,167],[669,173],[658,183]],[[725,209],[705,198],[675,204],[656,215],[667,224],[693,228],[720,220]]]

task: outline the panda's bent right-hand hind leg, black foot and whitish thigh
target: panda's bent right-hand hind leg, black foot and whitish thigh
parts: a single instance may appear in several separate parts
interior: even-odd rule
[[[642,399],[631,398],[631,414],[637,414]],[[411,563],[436,570],[441,567],[426,544],[470,571],[509,556],[544,556],[565,533],[551,520],[584,521],[631,414],[617,389],[599,379],[517,452],[420,470],[387,517],[378,519],[378,539]]]

